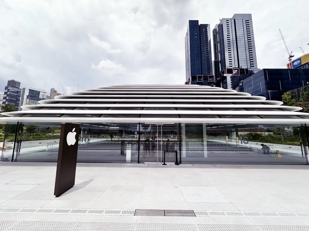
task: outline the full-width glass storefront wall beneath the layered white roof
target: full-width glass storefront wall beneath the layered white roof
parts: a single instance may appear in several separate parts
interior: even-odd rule
[[[2,161],[56,162],[60,124],[6,124]],[[308,128],[289,124],[82,124],[78,162],[308,164]],[[164,159],[165,157],[165,159]]]

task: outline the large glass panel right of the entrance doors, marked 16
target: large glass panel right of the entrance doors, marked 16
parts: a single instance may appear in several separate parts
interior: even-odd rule
[[[300,133],[294,125],[181,124],[182,163],[307,164]]]

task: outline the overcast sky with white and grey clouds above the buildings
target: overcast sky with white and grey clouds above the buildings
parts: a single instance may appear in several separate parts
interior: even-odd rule
[[[309,2],[298,0],[0,0],[0,92],[62,93],[115,84],[183,84],[188,20],[251,13],[259,68],[309,52]]]

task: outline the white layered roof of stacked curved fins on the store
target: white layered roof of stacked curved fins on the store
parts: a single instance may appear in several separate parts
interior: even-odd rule
[[[26,111],[2,113],[0,122],[300,124],[301,107],[220,87],[119,85],[58,95]]]

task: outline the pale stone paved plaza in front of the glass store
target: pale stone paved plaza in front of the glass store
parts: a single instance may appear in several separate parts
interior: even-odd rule
[[[0,162],[0,230],[309,230],[307,166],[77,164],[58,198],[55,173]]]

